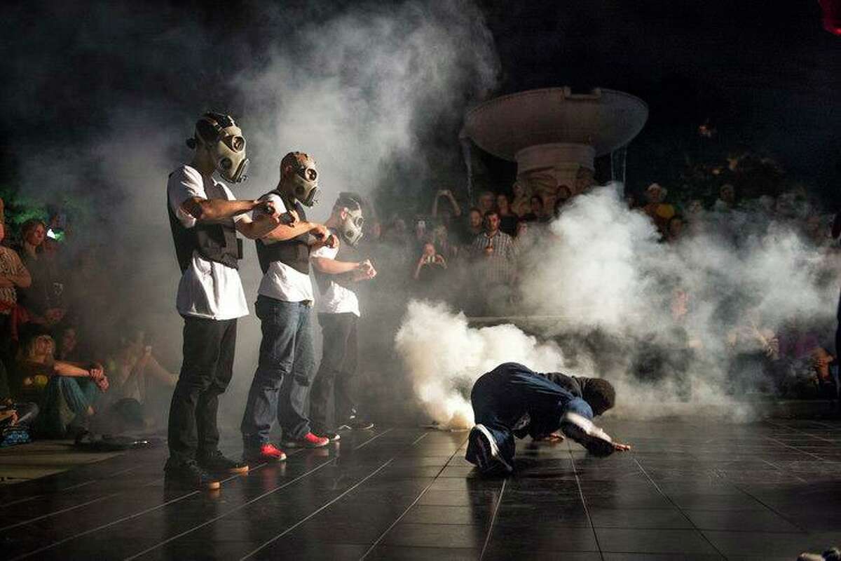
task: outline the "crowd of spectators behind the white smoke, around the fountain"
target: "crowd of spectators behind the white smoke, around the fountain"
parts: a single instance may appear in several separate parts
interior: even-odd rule
[[[651,183],[640,196],[628,193],[627,204],[648,215],[660,242],[667,246],[706,229],[738,248],[750,235],[770,225],[785,224],[799,231],[805,244],[822,251],[826,268],[831,269],[841,219],[836,218],[833,233],[832,215],[824,213],[801,186],[780,188],[773,173],[780,173],[775,161],[740,153],[728,156],[720,166],[691,167],[688,181],[696,182],[696,188],[681,185],[675,189],[680,196]],[[752,186],[757,177],[775,185],[776,193],[772,196],[746,187],[750,196],[743,196],[736,185]],[[699,184],[706,193],[697,188]],[[522,183],[515,183],[510,193],[479,193],[476,206],[464,208],[452,191],[445,189],[436,193],[430,213],[394,216],[378,225],[376,231],[382,236],[374,234],[374,246],[389,246],[395,284],[408,280],[409,296],[445,300],[473,317],[521,315],[516,301],[516,283],[523,271],[521,257],[534,251],[548,234],[547,224],[573,198],[566,185],[531,193]],[[407,222],[411,220],[414,228],[410,229]],[[674,322],[674,329],[680,331],[676,340],[685,341],[685,347],[665,349],[641,341],[635,368],[642,378],[674,377],[674,373],[685,371],[693,355],[704,352],[700,338],[692,336],[681,322],[706,295],[690,294],[680,286],[674,293],[664,318]],[[828,303],[828,308],[834,304]],[[760,327],[762,323],[759,317],[722,322],[731,325],[722,338],[731,355],[734,392],[838,397],[834,325],[804,325],[802,319]]]

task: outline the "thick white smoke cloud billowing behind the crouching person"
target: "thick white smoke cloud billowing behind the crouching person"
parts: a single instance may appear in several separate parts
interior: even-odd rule
[[[616,415],[748,418],[756,411],[731,379],[739,354],[764,352],[792,319],[831,320],[837,288],[823,276],[837,271],[793,226],[746,218],[736,238],[721,227],[727,216],[711,214],[696,233],[664,244],[645,214],[627,209],[620,185],[579,195],[521,256],[517,315],[551,316],[538,331],[560,346],[514,325],[474,329],[441,305],[410,304],[396,344],[419,400],[436,421],[461,426],[472,418],[463,386],[514,361],[610,379]],[[679,292],[688,306],[675,319]],[[645,352],[661,359],[657,375],[641,364]]]

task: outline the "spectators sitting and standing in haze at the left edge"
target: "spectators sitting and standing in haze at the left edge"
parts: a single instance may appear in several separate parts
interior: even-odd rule
[[[160,426],[176,377],[117,325],[108,257],[65,220],[13,218],[0,199],[0,446]]]

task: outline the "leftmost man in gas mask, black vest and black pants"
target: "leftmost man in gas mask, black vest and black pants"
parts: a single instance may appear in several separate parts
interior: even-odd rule
[[[237,272],[236,233],[257,239],[280,223],[270,203],[235,200],[228,183],[246,178],[246,139],[234,119],[206,113],[192,138],[193,161],[172,172],[167,209],[181,281],[176,307],[184,318],[183,362],[169,411],[167,479],[218,489],[219,475],[242,473],[245,463],[219,451],[216,411],[234,365],[236,320],[248,315]],[[246,213],[262,209],[259,220]]]

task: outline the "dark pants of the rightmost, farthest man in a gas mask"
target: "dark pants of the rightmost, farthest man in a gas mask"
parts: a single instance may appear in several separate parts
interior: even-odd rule
[[[359,318],[351,313],[319,314],[318,320],[324,336],[324,352],[309,396],[309,417],[316,431],[325,431],[327,405],[334,389],[333,421],[338,425],[356,414],[352,384],[357,373]]]

